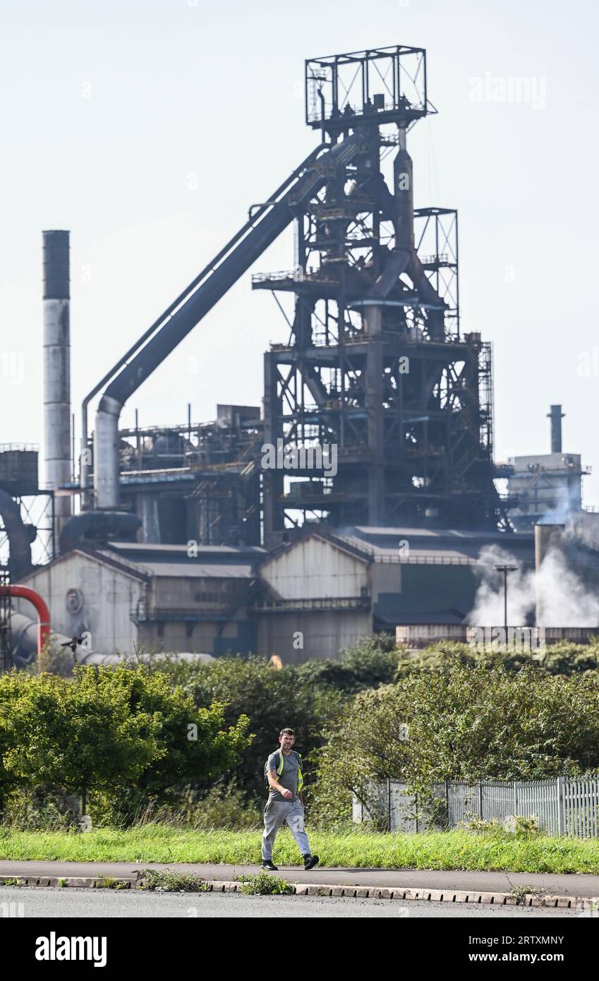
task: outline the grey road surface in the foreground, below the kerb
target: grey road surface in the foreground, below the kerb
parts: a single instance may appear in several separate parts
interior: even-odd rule
[[[572,919],[573,909],[524,908],[521,906],[471,905],[467,903],[425,903],[396,900],[321,899],[303,896],[240,896],[235,893],[145,893],[112,889],[44,889],[0,887],[0,918],[23,916],[171,918],[211,917],[301,919],[342,917],[344,919]],[[8,926],[8,923],[5,923]],[[581,924],[582,926],[582,924]]]

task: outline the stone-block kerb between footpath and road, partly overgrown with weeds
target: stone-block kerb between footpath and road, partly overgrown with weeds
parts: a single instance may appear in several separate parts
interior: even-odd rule
[[[238,893],[242,882],[229,880],[198,879],[202,892]],[[137,878],[113,876],[0,876],[0,886],[39,886],[57,889],[137,889]],[[597,898],[588,896],[539,896],[526,893],[516,897],[513,893],[481,893],[475,890],[411,889],[405,886],[389,888],[385,886],[329,886],[323,883],[310,884],[296,882],[289,884],[293,896],[318,896],[321,898],[339,897],[353,900],[389,900],[421,903],[469,903],[495,906],[544,906],[558,909],[596,909]],[[199,891],[199,890],[198,890]]]

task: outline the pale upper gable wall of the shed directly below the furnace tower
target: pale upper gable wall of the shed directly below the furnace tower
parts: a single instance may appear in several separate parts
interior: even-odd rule
[[[359,597],[369,589],[368,563],[318,538],[265,562],[260,575],[282,599]]]

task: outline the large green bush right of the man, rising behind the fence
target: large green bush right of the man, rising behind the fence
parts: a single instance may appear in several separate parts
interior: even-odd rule
[[[400,738],[407,726],[408,738]],[[459,658],[356,697],[318,761],[315,799],[375,811],[387,777],[419,795],[435,816],[431,784],[444,780],[535,780],[599,769],[599,685],[590,677],[531,666],[464,665]],[[438,808],[436,808],[438,811]],[[437,814],[438,816],[438,814]]]

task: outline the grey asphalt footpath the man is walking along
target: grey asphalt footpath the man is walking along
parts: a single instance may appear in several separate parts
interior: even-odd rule
[[[169,868],[201,879],[231,880],[242,873],[255,874],[258,865],[199,865],[172,862],[69,862],[0,861],[2,876],[98,876],[135,881],[140,868]],[[314,868],[305,872],[298,865],[279,866],[273,873],[287,882],[310,882],[331,886],[427,887],[443,890],[511,893],[514,887],[531,886],[552,896],[597,896],[599,875],[553,875],[533,872],[445,872],[428,869]]]

